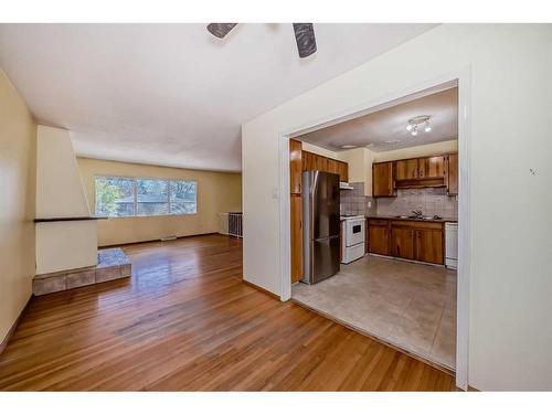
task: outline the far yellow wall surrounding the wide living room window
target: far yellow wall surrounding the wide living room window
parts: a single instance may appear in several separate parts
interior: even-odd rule
[[[198,182],[198,213],[98,221],[100,246],[187,236],[219,231],[217,213],[242,211],[242,176],[230,172],[185,170],[127,162],[77,158],[86,195],[94,211],[94,177],[148,177]]]

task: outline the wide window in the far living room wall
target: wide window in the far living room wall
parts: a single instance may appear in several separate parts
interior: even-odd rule
[[[195,181],[96,177],[96,215],[195,214]]]

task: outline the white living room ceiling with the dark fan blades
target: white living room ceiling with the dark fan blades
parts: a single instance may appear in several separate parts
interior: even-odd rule
[[[241,170],[241,124],[433,24],[315,24],[299,60],[291,24],[0,24],[0,67],[79,156]]]

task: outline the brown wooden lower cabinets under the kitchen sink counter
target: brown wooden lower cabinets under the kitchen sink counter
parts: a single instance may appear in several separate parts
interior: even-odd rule
[[[444,223],[369,219],[369,252],[444,264]]]

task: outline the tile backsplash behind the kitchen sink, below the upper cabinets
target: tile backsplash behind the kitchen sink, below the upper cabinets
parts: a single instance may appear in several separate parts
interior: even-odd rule
[[[378,199],[378,215],[410,215],[421,210],[424,215],[458,217],[458,200],[449,197],[445,188],[397,190],[396,198]]]

